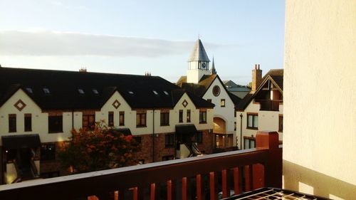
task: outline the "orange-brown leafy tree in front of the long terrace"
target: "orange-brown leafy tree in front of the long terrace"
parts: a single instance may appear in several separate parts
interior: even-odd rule
[[[63,167],[72,173],[93,172],[135,164],[133,153],[137,142],[132,135],[124,135],[108,128],[103,122],[93,130],[72,130],[70,142],[58,153]]]

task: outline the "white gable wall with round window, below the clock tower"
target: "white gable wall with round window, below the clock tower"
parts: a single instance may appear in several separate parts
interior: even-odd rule
[[[215,85],[218,85],[220,88],[220,94],[216,97],[213,95],[213,88]],[[225,86],[221,84],[218,78],[216,78],[213,83],[211,83],[208,90],[204,94],[204,100],[211,99],[211,102],[215,104],[214,107],[214,117],[220,117],[226,122],[226,134],[234,134],[234,146],[236,145],[236,131],[235,128],[235,121],[236,117],[234,115],[235,112],[235,105],[232,102],[229,94],[226,93],[224,89]],[[221,107],[221,99],[225,99],[225,107]]]

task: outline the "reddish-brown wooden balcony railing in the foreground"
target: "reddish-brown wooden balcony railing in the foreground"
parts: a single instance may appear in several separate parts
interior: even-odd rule
[[[0,199],[218,199],[263,186],[282,186],[277,132],[258,132],[256,149],[4,185]]]

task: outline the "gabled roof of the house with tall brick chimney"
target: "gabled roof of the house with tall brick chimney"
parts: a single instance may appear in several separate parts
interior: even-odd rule
[[[269,70],[266,75],[262,78],[261,85],[258,86],[255,93],[248,93],[236,106],[236,110],[245,110],[248,104],[253,100],[253,98],[258,94],[261,90],[262,85],[266,83],[266,81],[271,80],[273,83],[276,83],[278,89],[283,93],[283,69],[272,69]]]

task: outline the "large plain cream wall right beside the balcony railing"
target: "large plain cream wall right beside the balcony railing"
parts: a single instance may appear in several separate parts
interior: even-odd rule
[[[356,196],[356,1],[287,0],[283,186]]]

